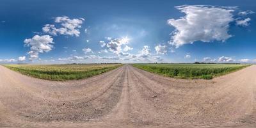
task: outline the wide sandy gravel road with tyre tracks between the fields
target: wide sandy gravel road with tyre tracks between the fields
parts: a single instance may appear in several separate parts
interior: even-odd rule
[[[66,82],[0,66],[0,127],[256,127],[256,65],[212,80],[124,65]]]

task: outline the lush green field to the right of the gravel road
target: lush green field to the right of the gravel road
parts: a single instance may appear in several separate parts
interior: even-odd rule
[[[250,65],[236,64],[133,64],[134,67],[163,76],[184,79],[212,79]]]

